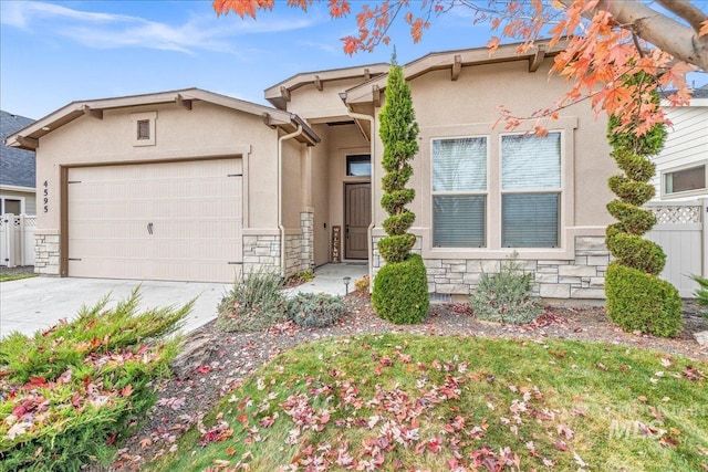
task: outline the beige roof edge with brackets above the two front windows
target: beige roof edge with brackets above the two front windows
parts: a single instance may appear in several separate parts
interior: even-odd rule
[[[545,57],[556,55],[566,46],[566,42],[560,41],[553,48],[548,46],[549,41],[537,41],[535,45],[525,52],[519,52],[521,43],[500,45],[493,54],[489,48],[475,48],[458,51],[433,52],[404,65],[405,78],[410,81],[431,71],[449,70],[450,81],[457,81],[462,73],[462,67],[470,65],[493,64],[500,62],[527,61],[529,72],[535,72]],[[388,74],[382,74],[367,82],[340,94],[347,105],[374,103],[382,97],[386,87]]]

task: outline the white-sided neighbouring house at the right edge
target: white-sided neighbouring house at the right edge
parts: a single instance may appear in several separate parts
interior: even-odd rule
[[[656,164],[655,200],[708,198],[708,85],[685,106],[665,108],[671,122]]]

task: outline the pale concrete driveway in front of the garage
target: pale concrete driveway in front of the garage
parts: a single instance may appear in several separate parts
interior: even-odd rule
[[[27,335],[62,318],[73,319],[82,305],[94,305],[110,294],[108,306],[140,285],[140,307],[181,306],[197,297],[184,332],[194,331],[217,316],[217,305],[229,284],[155,282],[106,279],[33,277],[0,283],[0,337],[11,332]]]

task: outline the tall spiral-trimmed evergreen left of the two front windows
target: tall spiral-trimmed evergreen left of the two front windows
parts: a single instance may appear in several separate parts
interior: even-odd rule
[[[378,252],[386,261],[374,279],[374,312],[396,324],[419,323],[428,314],[428,281],[420,255],[412,254],[415,234],[408,232],[416,216],[406,208],[415,191],[406,188],[413,176],[410,160],[418,151],[418,124],[415,120],[410,87],[403,67],[392,61],[386,83],[386,103],[379,114],[379,136],[384,144],[382,207],[388,212],[384,221],[386,237],[378,241]]]

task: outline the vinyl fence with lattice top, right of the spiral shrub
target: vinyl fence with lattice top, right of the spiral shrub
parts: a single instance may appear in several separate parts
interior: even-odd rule
[[[650,202],[645,208],[657,220],[646,238],[666,253],[662,279],[674,284],[683,297],[693,297],[698,284],[690,275],[708,277],[708,199]]]

